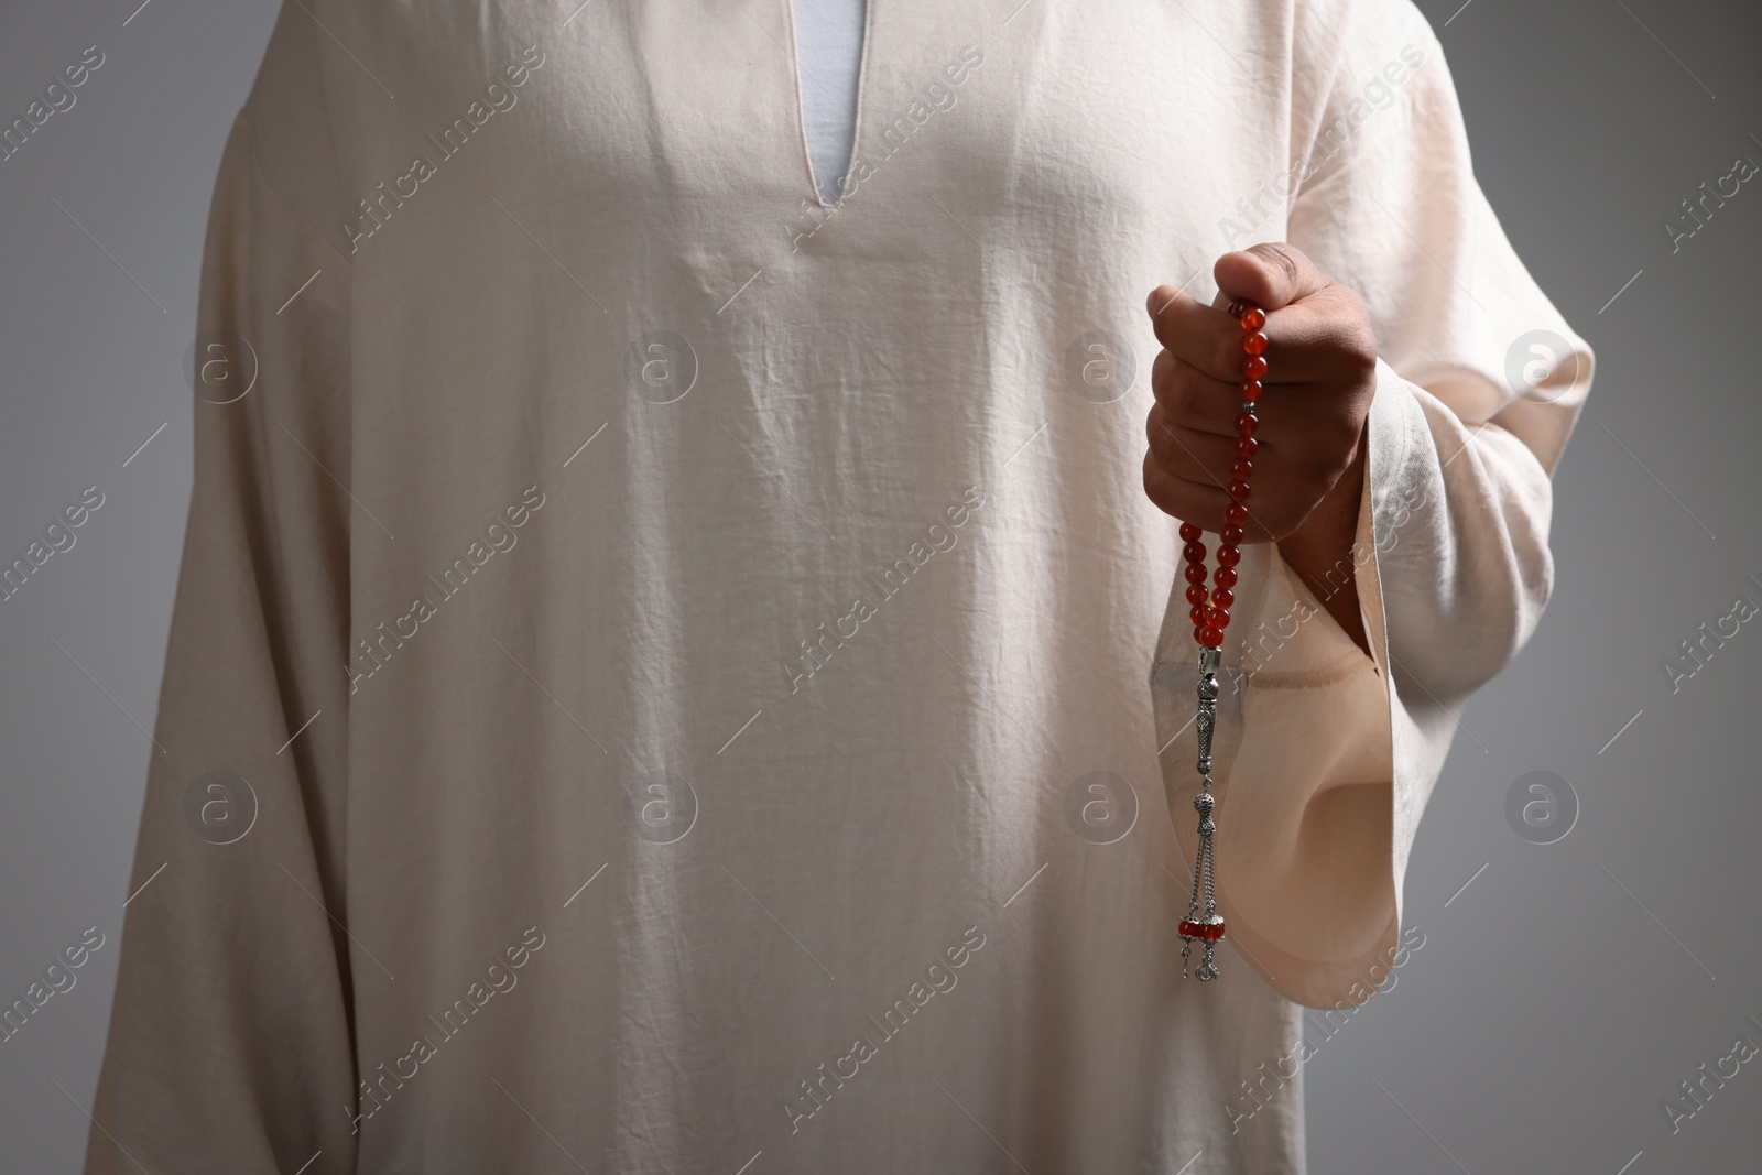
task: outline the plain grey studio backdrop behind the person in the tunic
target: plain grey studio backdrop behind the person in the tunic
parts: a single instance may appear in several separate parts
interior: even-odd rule
[[[190,490],[208,196],[277,9],[137,4],[0,9],[0,120],[83,46],[106,55],[0,164],[0,557],[83,486],[106,495],[0,602],[0,1002],[81,928],[107,935],[0,1045],[9,1171],[72,1171],[85,1147]],[[1462,719],[1413,853],[1425,944],[1306,1071],[1311,1168],[1758,1170],[1762,1059],[1676,1134],[1660,1101],[1739,1034],[1762,1043],[1762,624],[1677,692],[1662,666],[1736,595],[1762,602],[1762,176],[1676,254],[1662,218],[1762,162],[1762,16],[1457,5],[1422,2],[1477,173],[1600,372],[1556,477],[1554,602]],[[1558,844],[1507,824],[1533,770],[1579,796]]]

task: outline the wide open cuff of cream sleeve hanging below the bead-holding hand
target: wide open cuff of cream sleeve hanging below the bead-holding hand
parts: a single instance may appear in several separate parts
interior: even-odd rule
[[[1401,876],[1413,823],[1397,817],[1406,805],[1396,794],[1376,557],[1399,534],[1401,470],[1415,407],[1406,382],[1383,366],[1350,553],[1371,655],[1341,631],[1270,544],[1251,548],[1247,571],[1260,585],[1258,599],[1239,613],[1247,624],[1225,650],[1212,793],[1226,942],[1277,992],[1316,1008],[1369,999],[1387,981],[1399,950]],[[1196,664],[1181,624],[1181,588],[1177,580],[1152,668],[1152,696],[1158,738],[1166,743],[1165,796],[1175,839],[1191,861]]]

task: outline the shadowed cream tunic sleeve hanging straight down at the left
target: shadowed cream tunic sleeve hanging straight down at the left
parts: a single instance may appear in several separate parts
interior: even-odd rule
[[[189,530],[88,1175],[271,1175],[319,1150],[308,1175],[352,1170],[351,972],[396,971],[344,928],[349,541],[374,521],[345,490],[349,262],[289,203],[331,164],[312,21],[289,11],[215,183]]]

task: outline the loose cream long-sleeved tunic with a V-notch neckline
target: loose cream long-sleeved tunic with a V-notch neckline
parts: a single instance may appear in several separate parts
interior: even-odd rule
[[[90,1171],[1302,1170],[1589,354],[1404,0],[876,0],[837,210],[788,35],[282,12]],[[1376,324],[1376,662],[1244,560],[1198,985],[1144,301],[1253,240]]]

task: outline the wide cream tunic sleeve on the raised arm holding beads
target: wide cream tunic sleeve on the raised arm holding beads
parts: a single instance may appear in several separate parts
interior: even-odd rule
[[[1286,236],[1360,294],[1376,328],[1359,534],[1351,567],[1329,576],[1355,573],[1371,657],[1276,550],[1256,548],[1244,581],[1260,580],[1258,606],[1240,639],[1232,625],[1237,691],[1219,715],[1221,736],[1232,722],[1244,733],[1225,743],[1216,789],[1230,937],[1311,1006],[1369,999],[1399,960],[1408,854],[1457,717],[1552,587],[1549,477],[1591,379],[1589,347],[1475,181],[1424,18],[1406,0],[1332,7],[1300,39]],[[1152,673],[1163,740],[1193,712],[1182,587]],[[1191,733],[1163,772],[1191,860]]]

